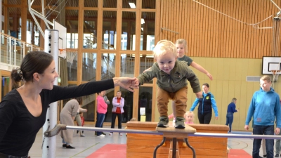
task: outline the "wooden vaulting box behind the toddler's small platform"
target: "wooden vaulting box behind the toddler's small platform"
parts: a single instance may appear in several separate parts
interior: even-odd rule
[[[228,126],[215,124],[188,124],[202,133],[228,133]],[[155,131],[157,122],[129,121],[126,129],[137,129],[145,131]],[[162,142],[162,135],[150,134],[127,134],[127,158],[151,158],[155,147]],[[195,149],[197,158],[227,158],[228,138],[188,136],[188,142]],[[169,157],[171,139],[167,138],[164,145],[157,150],[157,158]],[[192,150],[178,140],[178,150],[180,157],[192,157]]]

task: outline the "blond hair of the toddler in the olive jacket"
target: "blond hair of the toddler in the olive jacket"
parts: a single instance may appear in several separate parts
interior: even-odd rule
[[[166,53],[173,53],[176,57],[176,46],[173,42],[168,40],[158,41],[155,48],[153,49],[153,56],[156,59],[160,55],[164,55]]]

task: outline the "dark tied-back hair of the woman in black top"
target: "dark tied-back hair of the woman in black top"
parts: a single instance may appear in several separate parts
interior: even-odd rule
[[[25,55],[20,65],[20,70],[13,69],[11,72],[12,85],[16,87],[22,79],[25,81],[33,81],[35,72],[43,74],[46,68],[51,65],[53,56],[43,51],[32,51]],[[21,74],[19,73],[21,72]]]

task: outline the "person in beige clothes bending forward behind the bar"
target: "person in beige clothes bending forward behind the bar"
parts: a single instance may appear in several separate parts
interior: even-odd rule
[[[60,124],[65,124],[67,126],[74,126],[74,119],[77,113],[77,109],[79,109],[79,103],[77,99],[69,100],[63,110],[60,112]],[[68,149],[75,149],[70,144],[72,144],[73,130],[63,130],[60,131],[60,136],[63,138],[63,147]]]

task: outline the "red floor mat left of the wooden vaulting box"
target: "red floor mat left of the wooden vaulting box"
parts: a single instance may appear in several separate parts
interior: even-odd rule
[[[126,158],[126,144],[107,144],[86,158]]]

